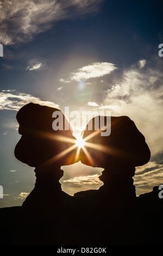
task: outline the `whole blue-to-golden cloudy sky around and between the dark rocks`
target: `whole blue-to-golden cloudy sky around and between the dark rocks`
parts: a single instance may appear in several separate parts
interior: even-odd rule
[[[163,184],[162,8],[158,0],[0,1],[0,208],[22,205],[34,188],[34,168],[14,156],[16,113],[29,102],[127,115],[151,150],[136,167],[137,196]],[[63,169],[71,195],[102,185],[102,168]]]

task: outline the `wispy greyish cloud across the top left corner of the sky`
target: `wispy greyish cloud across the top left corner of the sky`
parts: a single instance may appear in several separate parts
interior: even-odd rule
[[[4,45],[33,39],[58,21],[97,13],[102,0],[4,0],[0,2],[0,41]]]

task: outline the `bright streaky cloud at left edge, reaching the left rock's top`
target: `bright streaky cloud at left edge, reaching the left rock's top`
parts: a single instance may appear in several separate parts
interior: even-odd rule
[[[59,105],[51,101],[43,101],[26,93],[19,93],[16,90],[3,90],[0,93],[0,109],[9,109],[18,111],[24,105],[33,102],[40,105],[59,108]]]

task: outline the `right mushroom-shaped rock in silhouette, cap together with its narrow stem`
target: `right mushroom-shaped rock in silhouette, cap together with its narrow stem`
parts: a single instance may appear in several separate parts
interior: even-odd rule
[[[93,167],[104,168],[99,177],[104,185],[99,188],[103,197],[108,197],[108,204],[111,201],[120,206],[124,205],[124,200],[133,200],[136,198],[135,186],[133,185],[133,176],[135,167],[141,166],[149,161],[151,157],[145,137],[137,130],[134,122],[128,117],[111,117],[111,133],[109,136],[101,136],[95,129],[96,120],[100,117],[90,120],[92,130],[89,130],[90,124],[87,124],[83,131],[83,138],[86,138],[95,132],[95,136],[90,137],[87,142],[96,145],[95,148],[87,148],[93,163],[89,161],[86,155],[81,153],[81,162]],[[106,117],[104,117],[106,126]],[[100,126],[100,125],[99,125]],[[103,191],[103,192],[102,192]],[[122,201],[122,202],[121,202]]]

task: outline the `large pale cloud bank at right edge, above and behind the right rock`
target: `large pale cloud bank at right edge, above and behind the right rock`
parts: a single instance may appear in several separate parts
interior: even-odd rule
[[[145,61],[143,61],[145,64]],[[161,153],[163,141],[163,73],[159,57],[146,66],[123,70],[106,91],[99,106],[111,115],[128,115],[146,137],[152,156]]]

